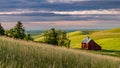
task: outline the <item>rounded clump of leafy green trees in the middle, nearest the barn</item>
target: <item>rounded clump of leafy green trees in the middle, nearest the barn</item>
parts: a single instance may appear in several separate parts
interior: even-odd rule
[[[67,38],[67,33],[61,30],[52,28],[44,32],[44,41],[48,44],[57,46],[66,46],[69,48],[70,40]]]

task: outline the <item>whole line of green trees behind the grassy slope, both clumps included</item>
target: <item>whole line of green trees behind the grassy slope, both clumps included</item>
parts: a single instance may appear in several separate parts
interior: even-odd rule
[[[18,21],[17,24],[9,29],[4,30],[0,23],[0,35],[7,36],[16,39],[24,39],[24,40],[32,40],[33,38],[29,33],[25,31],[25,28],[21,21]],[[43,32],[44,43],[52,44],[55,46],[65,46],[70,47],[70,40],[67,37],[67,33],[62,30],[56,30],[55,28],[51,28]]]

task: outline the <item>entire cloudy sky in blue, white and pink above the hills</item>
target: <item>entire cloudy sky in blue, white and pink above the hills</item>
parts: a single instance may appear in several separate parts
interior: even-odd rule
[[[21,21],[26,30],[120,27],[120,0],[0,0],[5,29]]]

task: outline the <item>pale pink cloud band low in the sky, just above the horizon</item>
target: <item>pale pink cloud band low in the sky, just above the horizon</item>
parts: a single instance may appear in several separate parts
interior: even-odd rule
[[[102,22],[102,23],[101,23]],[[120,27],[119,21],[91,20],[91,21],[39,21],[22,22],[26,30],[46,30],[50,28],[57,29],[108,29]],[[15,26],[16,22],[2,22],[5,29]]]

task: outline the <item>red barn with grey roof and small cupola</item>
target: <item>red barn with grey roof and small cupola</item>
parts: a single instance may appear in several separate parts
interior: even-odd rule
[[[82,49],[101,50],[101,47],[94,40],[87,37],[82,41]]]

